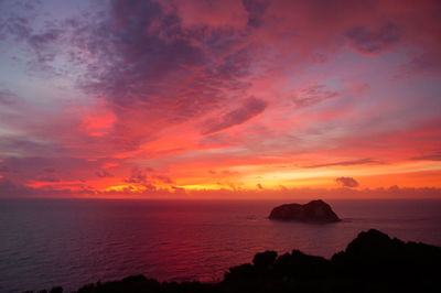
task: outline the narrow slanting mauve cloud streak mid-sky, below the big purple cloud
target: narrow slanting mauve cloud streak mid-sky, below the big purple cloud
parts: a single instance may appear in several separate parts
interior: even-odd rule
[[[208,120],[202,131],[203,134],[211,134],[237,124],[241,124],[252,117],[261,113],[268,104],[255,97],[248,98],[240,108],[224,115],[219,120]]]

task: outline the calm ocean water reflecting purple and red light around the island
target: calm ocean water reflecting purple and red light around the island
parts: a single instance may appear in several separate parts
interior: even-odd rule
[[[441,200],[327,200],[343,221],[267,217],[304,200],[0,199],[0,292],[143,273],[216,281],[267,249],[331,257],[362,230],[441,246]]]

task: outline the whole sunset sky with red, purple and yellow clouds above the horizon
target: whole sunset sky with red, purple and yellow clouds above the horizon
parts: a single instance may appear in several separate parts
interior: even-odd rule
[[[0,0],[0,197],[441,197],[440,19]]]

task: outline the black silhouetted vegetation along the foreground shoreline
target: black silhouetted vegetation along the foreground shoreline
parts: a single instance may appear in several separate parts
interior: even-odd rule
[[[252,263],[230,268],[218,283],[158,282],[143,275],[85,285],[100,292],[441,292],[441,247],[361,232],[331,260],[293,250],[257,253]],[[50,292],[62,292],[54,287]]]

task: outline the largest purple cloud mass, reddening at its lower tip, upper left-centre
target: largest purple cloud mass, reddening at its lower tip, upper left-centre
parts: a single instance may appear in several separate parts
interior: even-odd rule
[[[173,4],[110,3],[108,13],[68,24],[66,54],[86,68],[78,86],[107,100],[117,116],[111,134],[130,150],[163,128],[227,107],[226,91],[249,86],[254,48],[229,29],[185,26]]]

